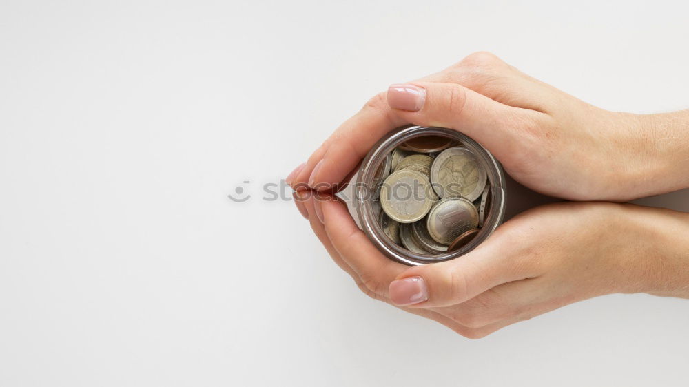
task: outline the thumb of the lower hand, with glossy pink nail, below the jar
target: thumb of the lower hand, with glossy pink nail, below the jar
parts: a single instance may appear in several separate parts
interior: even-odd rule
[[[537,275],[535,267],[517,262],[508,249],[488,240],[455,260],[407,269],[390,284],[389,296],[394,304],[410,307],[460,304],[500,284]]]

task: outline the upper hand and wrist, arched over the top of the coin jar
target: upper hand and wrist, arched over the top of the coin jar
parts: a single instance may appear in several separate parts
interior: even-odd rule
[[[407,123],[463,132],[551,196],[624,201],[689,187],[689,112],[608,112],[484,52],[374,96],[286,180],[325,190]]]

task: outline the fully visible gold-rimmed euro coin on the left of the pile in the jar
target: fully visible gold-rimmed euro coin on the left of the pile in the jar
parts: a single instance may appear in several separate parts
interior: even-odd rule
[[[431,183],[417,171],[402,169],[388,176],[380,189],[380,205],[393,220],[411,223],[426,216],[433,205]]]

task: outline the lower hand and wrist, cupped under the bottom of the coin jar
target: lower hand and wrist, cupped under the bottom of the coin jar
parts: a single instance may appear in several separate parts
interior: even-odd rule
[[[367,295],[478,338],[608,293],[689,298],[689,214],[635,205],[558,203],[502,224],[455,260],[393,262],[342,202],[312,191],[297,207],[333,260]]]

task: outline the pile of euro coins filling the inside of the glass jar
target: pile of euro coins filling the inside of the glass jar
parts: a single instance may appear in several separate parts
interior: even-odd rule
[[[489,213],[486,171],[469,148],[442,136],[407,140],[376,172],[374,208],[395,244],[438,255],[465,246]]]

